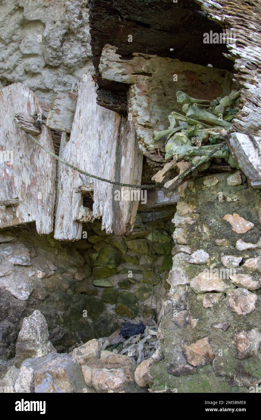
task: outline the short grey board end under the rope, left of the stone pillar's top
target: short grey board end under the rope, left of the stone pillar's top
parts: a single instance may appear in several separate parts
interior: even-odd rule
[[[179,201],[179,195],[177,192],[171,193],[164,189],[154,189],[147,191],[147,202],[140,202],[138,210],[145,210],[148,207],[162,207],[170,204],[176,204]]]

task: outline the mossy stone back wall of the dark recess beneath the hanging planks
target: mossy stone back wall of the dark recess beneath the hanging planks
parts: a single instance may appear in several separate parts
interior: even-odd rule
[[[127,320],[153,325],[168,292],[173,223],[142,223],[129,237],[96,220],[76,242],[34,226],[0,232],[0,356],[13,357],[23,318],[38,309],[58,352],[109,336]]]

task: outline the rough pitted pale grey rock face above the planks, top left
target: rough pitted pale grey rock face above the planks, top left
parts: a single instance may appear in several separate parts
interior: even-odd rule
[[[71,90],[91,68],[87,3],[3,0],[0,4],[0,84],[22,82],[39,100]]]

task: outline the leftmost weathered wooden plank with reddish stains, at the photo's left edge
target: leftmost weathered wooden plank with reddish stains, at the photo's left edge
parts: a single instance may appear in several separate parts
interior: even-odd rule
[[[0,199],[18,199],[18,205],[0,207],[0,228],[35,221],[39,234],[49,234],[53,226],[56,164],[16,126],[16,113],[42,113],[34,93],[21,83],[0,89]],[[42,126],[37,139],[54,152],[47,127]]]

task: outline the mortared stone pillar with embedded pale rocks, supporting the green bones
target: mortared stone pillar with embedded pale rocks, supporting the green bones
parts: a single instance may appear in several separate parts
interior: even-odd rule
[[[261,382],[260,192],[239,172],[184,188],[151,386],[249,392]]]

